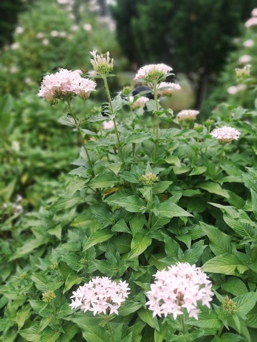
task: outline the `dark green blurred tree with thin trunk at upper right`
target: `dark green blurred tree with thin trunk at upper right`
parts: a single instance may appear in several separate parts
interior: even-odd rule
[[[120,47],[139,66],[163,62],[196,85],[196,106],[256,0],[117,0]]]

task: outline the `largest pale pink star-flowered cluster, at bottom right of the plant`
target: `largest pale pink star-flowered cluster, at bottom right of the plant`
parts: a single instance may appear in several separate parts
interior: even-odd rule
[[[213,293],[211,281],[199,267],[177,263],[155,274],[155,283],[146,295],[146,305],[153,311],[153,317],[172,314],[176,319],[187,311],[189,317],[198,319],[197,302],[210,308]]]

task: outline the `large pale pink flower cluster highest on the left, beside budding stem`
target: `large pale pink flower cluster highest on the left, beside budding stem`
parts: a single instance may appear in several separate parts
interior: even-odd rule
[[[46,75],[43,78],[39,96],[50,102],[58,98],[65,99],[74,94],[78,94],[83,99],[88,98],[91,91],[95,90],[96,83],[91,79],[81,77],[81,74],[81,70],[61,69],[55,74]]]

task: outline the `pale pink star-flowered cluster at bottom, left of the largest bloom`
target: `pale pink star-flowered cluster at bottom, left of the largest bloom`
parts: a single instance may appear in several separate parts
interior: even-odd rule
[[[126,281],[116,284],[109,277],[96,277],[88,284],[80,286],[77,291],[72,292],[72,309],[80,308],[82,311],[93,311],[94,316],[103,312],[106,314],[116,313],[122,302],[128,296],[130,290]]]

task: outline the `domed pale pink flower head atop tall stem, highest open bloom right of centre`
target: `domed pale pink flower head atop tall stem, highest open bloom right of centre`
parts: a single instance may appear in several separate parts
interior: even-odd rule
[[[163,77],[165,74],[172,71],[172,67],[169,67],[166,64],[149,64],[141,67],[136,76],[135,81],[141,81],[142,79],[146,79],[147,81],[153,81],[153,79],[157,79],[159,77]]]

